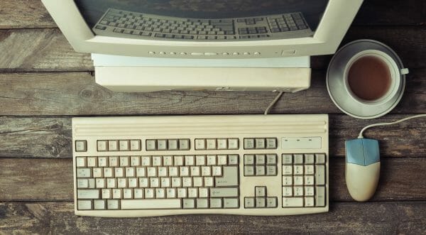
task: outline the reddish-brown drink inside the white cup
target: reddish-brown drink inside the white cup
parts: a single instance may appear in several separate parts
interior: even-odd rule
[[[349,69],[351,91],[360,99],[373,101],[383,97],[391,87],[391,71],[386,62],[374,56],[356,60]]]

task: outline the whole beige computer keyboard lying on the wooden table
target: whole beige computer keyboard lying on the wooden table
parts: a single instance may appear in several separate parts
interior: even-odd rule
[[[328,211],[328,116],[72,119],[75,214]]]

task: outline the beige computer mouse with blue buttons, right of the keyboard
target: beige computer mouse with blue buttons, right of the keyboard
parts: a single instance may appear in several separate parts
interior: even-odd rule
[[[380,175],[378,141],[356,138],[346,141],[345,179],[351,197],[365,202],[373,197]]]

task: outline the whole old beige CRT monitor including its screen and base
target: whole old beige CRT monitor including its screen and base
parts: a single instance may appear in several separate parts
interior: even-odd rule
[[[334,53],[362,4],[42,1],[72,47],[92,53],[97,82],[131,92],[305,89],[309,56]]]

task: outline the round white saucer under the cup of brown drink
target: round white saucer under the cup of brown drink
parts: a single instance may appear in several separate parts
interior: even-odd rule
[[[385,104],[365,105],[356,102],[344,88],[344,68],[354,55],[363,50],[380,50],[391,56],[400,70],[404,68],[398,55],[387,45],[376,40],[355,40],[340,48],[330,61],[327,70],[327,90],[334,104],[345,114],[357,119],[375,119],[390,112],[400,102],[405,89],[405,75],[400,75],[398,92]]]

